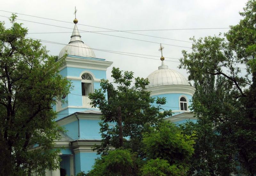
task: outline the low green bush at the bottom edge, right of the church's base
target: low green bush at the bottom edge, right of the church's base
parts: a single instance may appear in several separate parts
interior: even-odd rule
[[[117,149],[96,159],[88,176],[135,176],[142,161],[130,150]]]

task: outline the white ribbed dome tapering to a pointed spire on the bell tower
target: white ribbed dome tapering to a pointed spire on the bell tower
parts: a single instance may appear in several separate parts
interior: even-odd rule
[[[58,59],[63,57],[66,53],[68,55],[76,55],[82,57],[95,57],[93,50],[82,41],[76,24],[74,26],[73,33],[68,45],[61,49]]]

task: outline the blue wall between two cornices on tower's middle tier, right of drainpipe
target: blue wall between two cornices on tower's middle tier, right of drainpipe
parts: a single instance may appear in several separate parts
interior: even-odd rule
[[[80,120],[80,139],[97,139],[100,136],[100,120]]]

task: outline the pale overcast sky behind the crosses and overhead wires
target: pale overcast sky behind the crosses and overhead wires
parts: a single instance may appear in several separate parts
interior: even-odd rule
[[[44,18],[52,18],[61,21],[73,22],[75,6],[77,8],[76,18],[78,19],[78,29],[84,31],[106,31],[105,29],[82,26],[79,24],[110,28],[114,30],[152,30],[152,29],[187,29],[187,28],[224,28],[229,25],[236,25],[241,16],[239,11],[243,11],[246,0],[9,0],[1,3],[0,10],[22,13]],[[0,11],[2,16],[10,16],[11,13]],[[53,42],[68,44],[74,24],[57,22],[49,19],[29,17],[18,14],[19,19],[45,23],[55,26],[37,24],[33,22],[20,21],[29,29],[28,37],[49,40]],[[0,17],[0,21],[5,21],[6,27],[10,24],[7,18]],[[67,28],[60,28],[63,26]],[[203,30],[169,30],[169,31],[140,31],[140,33],[157,37],[189,41],[190,37],[205,37],[208,35],[218,35],[225,33],[228,29],[203,29]],[[49,33],[66,32],[66,33]],[[42,34],[44,33],[44,34]],[[191,47],[191,43],[160,39],[148,36],[135,35],[124,32],[102,32],[104,34],[117,35],[122,37],[147,40],[156,43],[130,40],[119,37],[107,36],[97,33],[80,33],[84,43],[91,48],[113,50],[144,55],[154,55],[146,59],[127,55],[118,55],[102,51],[94,51],[97,58],[104,58],[106,61],[114,62],[112,66],[121,70],[129,70],[135,73],[135,77],[147,77],[151,72],[161,65],[158,51],[159,44],[165,43],[182,47],[163,45],[165,57],[180,58],[181,51]],[[43,43],[43,42],[42,42]],[[59,55],[63,45],[43,43],[51,55]],[[168,61],[167,61],[168,60]],[[176,61],[176,62],[171,62]],[[165,59],[165,65],[170,69],[178,70],[177,59]],[[110,78],[111,68],[108,68],[107,78]],[[186,70],[179,70],[184,76],[188,76]]]

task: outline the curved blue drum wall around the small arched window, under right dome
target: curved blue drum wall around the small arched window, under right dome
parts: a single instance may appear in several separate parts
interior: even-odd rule
[[[180,106],[179,106],[179,98],[180,96],[184,95],[187,100],[188,100],[188,106],[190,106],[190,102],[189,100],[192,99],[192,96],[191,95],[188,95],[188,94],[181,94],[181,93],[169,93],[169,94],[161,94],[161,95],[154,95],[152,96],[153,98],[156,98],[159,97],[159,98],[163,98],[165,97],[166,98],[166,104],[163,105],[163,106],[168,106],[168,107],[163,107],[164,110],[173,110],[173,111],[177,111],[177,110],[180,110]],[[156,103],[154,103],[153,105],[156,106]]]

